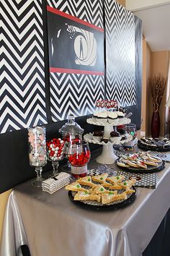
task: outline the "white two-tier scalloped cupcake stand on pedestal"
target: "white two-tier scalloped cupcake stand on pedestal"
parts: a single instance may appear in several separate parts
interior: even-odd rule
[[[110,132],[112,132],[114,129],[113,127],[118,126],[118,125],[122,125],[122,124],[129,124],[130,123],[130,119],[127,118],[123,118],[123,119],[118,119],[117,124],[115,125],[115,121],[113,120],[113,122],[107,122],[107,121],[97,121],[94,118],[89,118],[86,120],[88,124],[94,124],[94,125],[98,125],[98,126],[104,126],[104,135],[103,137],[110,137]],[[125,135],[122,135],[125,136]],[[86,140],[87,142],[90,143],[94,143],[94,144],[99,144],[99,145],[103,145],[102,148],[102,154],[99,155],[97,157],[97,162],[98,163],[103,163],[103,164],[112,164],[115,163],[117,156],[114,153],[113,150],[113,145],[120,145],[120,144],[124,144],[126,142],[129,142],[130,140],[133,140],[133,136],[132,135],[128,135],[126,134],[127,139],[126,140],[118,140],[115,142],[101,142],[100,140],[95,140],[93,135],[91,133],[84,135],[84,140]]]

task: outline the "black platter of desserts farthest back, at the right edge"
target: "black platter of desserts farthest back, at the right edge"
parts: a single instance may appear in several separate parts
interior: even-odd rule
[[[170,151],[170,140],[168,138],[155,138],[152,137],[141,137],[138,140],[138,147],[143,150],[154,150],[154,151]]]

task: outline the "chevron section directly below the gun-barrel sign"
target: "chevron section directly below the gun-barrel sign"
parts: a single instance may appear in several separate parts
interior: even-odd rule
[[[50,92],[54,121],[91,114],[97,99],[104,98],[104,76],[50,73]]]

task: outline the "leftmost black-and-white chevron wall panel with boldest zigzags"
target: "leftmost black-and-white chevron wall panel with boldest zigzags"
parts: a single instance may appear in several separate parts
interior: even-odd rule
[[[0,132],[46,124],[41,0],[1,0]]]

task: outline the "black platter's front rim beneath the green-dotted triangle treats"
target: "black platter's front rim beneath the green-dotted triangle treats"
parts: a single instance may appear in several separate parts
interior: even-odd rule
[[[132,187],[132,189],[135,190],[135,187]],[[102,205],[102,202],[99,203],[99,202],[96,202],[96,201],[94,202],[90,200],[89,201],[73,200],[74,196],[72,191],[68,191],[68,197],[73,203],[87,210],[88,209],[89,210],[115,210],[118,208],[125,207],[126,205],[130,205],[130,203],[132,203],[135,200],[136,190],[126,200],[119,200],[117,202],[109,203],[108,205]]]

